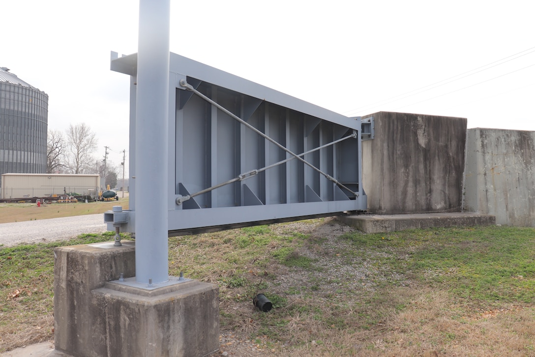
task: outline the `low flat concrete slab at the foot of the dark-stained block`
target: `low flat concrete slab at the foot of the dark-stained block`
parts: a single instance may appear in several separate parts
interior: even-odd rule
[[[496,224],[494,215],[475,212],[355,214],[339,216],[338,219],[364,233],[386,233],[431,227],[492,226]]]

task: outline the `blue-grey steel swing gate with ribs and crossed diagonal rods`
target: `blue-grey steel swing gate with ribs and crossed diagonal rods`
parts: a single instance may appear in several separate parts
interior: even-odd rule
[[[111,69],[132,76],[131,192],[136,67],[136,54],[112,53]],[[169,87],[168,185],[154,187],[169,192],[169,236],[366,210],[361,143],[373,133],[361,132],[360,117],[173,53]],[[135,202],[115,221],[125,232],[134,232]]]

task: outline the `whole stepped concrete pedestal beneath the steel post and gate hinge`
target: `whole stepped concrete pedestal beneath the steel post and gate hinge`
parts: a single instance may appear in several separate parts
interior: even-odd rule
[[[219,348],[216,285],[176,278],[153,287],[135,283],[133,242],[60,247],[54,254],[58,351],[74,357],[205,356]],[[126,281],[117,281],[120,273]]]

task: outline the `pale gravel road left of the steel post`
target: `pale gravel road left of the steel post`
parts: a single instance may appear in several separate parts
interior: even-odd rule
[[[107,230],[104,214],[77,215],[0,224],[0,247],[21,243],[43,243],[67,240],[83,233],[101,233]]]

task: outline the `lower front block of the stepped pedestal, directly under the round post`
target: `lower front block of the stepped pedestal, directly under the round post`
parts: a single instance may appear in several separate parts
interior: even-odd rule
[[[146,294],[111,282],[93,291],[107,356],[205,356],[219,349],[219,290],[186,281]]]

